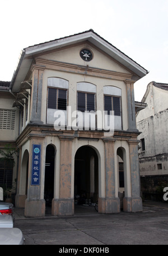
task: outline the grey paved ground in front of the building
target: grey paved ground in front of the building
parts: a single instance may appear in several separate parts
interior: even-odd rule
[[[25,218],[15,208],[15,227],[26,245],[167,245],[168,203],[145,201],[143,212],[99,214],[77,207],[72,217]]]

